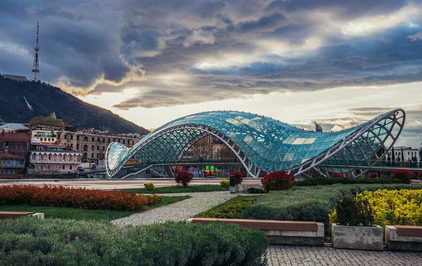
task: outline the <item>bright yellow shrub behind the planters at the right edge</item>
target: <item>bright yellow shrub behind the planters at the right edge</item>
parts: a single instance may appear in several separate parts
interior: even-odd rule
[[[370,206],[373,224],[422,225],[422,189],[364,191],[355,198]],[[335,215],[331,213],[331,221],[335,221]]]

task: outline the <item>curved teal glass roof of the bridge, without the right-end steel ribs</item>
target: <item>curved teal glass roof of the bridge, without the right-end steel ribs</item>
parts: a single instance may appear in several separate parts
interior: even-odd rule
[[[108,167],[110,170],[122,167],[129,158],[151,162],[177,160],[184,148],[203,134],[203,130],[195,129],[200,125],[229,137],[257,167],[266,171],[286,170],[318,156],[373,120],[340,132],[313,132],[252,113],[196,113],[162,125],[130,149],[122,144],[110,145]]]

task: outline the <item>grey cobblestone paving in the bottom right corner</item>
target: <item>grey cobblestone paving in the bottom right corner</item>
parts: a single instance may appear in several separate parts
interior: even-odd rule
[[[422,252],[356,251],[312,246],[270,246],[269,265],[422,265]]]

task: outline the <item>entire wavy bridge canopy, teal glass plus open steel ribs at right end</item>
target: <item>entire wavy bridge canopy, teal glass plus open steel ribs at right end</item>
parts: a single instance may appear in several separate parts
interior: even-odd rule
[[[231,149],[250,177],[274,170],[287,170],[296,176],[314,171],[326,175],[330,170],[324,169],[324,164],[370,166],[382,158],[397,141],[404,120],[404,110],[395,109],[351,129],[321,133],[251,113],[197,113],[163,125],[130,149],[110,144],[106,169],[113,177],[131,158],[141,160],[145,169],[177,164],[198,139],[212,135]]]

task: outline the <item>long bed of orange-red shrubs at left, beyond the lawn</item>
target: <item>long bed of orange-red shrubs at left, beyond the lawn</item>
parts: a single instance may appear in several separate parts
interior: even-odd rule
[[[0,205],[29,204],[91,210],[141,210],[161,201],[161,196],[143,196],[122,191],[76,189],[65,186],[0,186]]]

